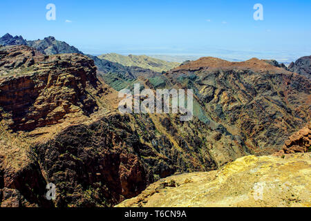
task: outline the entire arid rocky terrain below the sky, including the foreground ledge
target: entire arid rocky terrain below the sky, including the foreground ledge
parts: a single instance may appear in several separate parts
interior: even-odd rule
[[[0,206],[310,206],[305,58],[202,57],[160,73],[54,37],[1,44]],[[193,89],[193,119],[121,114],[118,90],[138,83]]]

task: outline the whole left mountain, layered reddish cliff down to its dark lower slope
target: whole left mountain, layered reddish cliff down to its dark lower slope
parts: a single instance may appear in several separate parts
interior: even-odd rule
[[[28,46],[0,51],[1,206],[111,206],[161,177],[217,168],[205,147],[215,131],[198,119],[121,116],[92,59]],[[246,154],[232,137],[215,143],[231,146],[228,159]],[[44,198],[49,182],[54,202]]]

